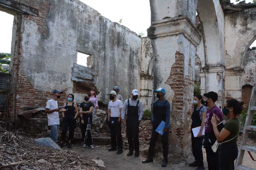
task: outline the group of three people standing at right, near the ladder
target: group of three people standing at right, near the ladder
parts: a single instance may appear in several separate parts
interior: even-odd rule
[[[204,97],[204,99],[203,99]],[[198,166],[196,170],[204,170],[203,151],[205,148],[209,170],[234,170],[234,161],[238,156],[237,136],[240,129],[239,115],[242,113],[243,102],[236,99],[227,100],[222,112],[215,105],[218,100],[216,92],[205,93],[204,96],[196,95],[193,101],[191,141],[195,161],[189,166]],[[207,109],[208,108],[208,109]],[[222,122],[223,115],[228,117],[222,129],[218,124]],[[199,127],[200,131],[195,137],[192,128]],[[205,128],[205,129],[204,129]],[[204,135],[202,135],[204,129]],[[216,152],[212,145],[216,142],[219,147]]]

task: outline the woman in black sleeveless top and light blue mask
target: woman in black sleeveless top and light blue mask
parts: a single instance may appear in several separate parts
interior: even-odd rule
[[[68,102],[66,102],[65,109],[60,110],[63,117],[63,126],[61,132],[61,143],[60,146],[63,147],[64,141],[66,139],[66,134],[69,127],[69,135],[68,135],[68,148],[71,148],[71,141],[74,139],[74,133],[76,128],[76,117],[78,115],[78,108],[76,103],[73,102],[74,95],[68,95]],[[76,114],[75,114],[76,111]]]

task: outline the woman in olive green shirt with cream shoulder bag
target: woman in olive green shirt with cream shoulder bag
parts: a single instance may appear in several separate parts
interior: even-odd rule
[[[219,165],[220,170],[234,170],[234,161],[238,155],[237,137],[240,130],[239,116],[242,112],[244,102],[238,102],[236,99],[230,99],[226,102],[226,106],[222,110],[223,114],[228,117],[221,131],[218,130],[217,125],[220,120],[217,116],[212,117],[212,126],[214,134],[221,142],[219,145]]]

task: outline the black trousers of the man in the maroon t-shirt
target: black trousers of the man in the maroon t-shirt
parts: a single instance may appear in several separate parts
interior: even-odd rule
[[[205,133],[204,134],[204,148],[206,152],[206,159],[209,170],[219,170],[219,150],[216,152],[212,151],[212,145],[215,143],[217,138],[214,133]]]

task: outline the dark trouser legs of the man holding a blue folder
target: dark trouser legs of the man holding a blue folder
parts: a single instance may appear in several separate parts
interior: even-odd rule
[[[148,158],[153,159],[155,155],[155,146],[156,146],[156,141],[159,133],[156,132],[156,128],[159,124],[154,124],[153,123],[153,128],[151,132],[151,138],[150,138],[150,143],[149,143],[149,149],[148,149]],[[168,160],[168,150],[169,150],[169,143],[168,143],[168,137],[169,137],[169,129],[167,132],[165,132],[162,135],[162,145],[163,145],[163,150],[164,150],[164,159]]]

